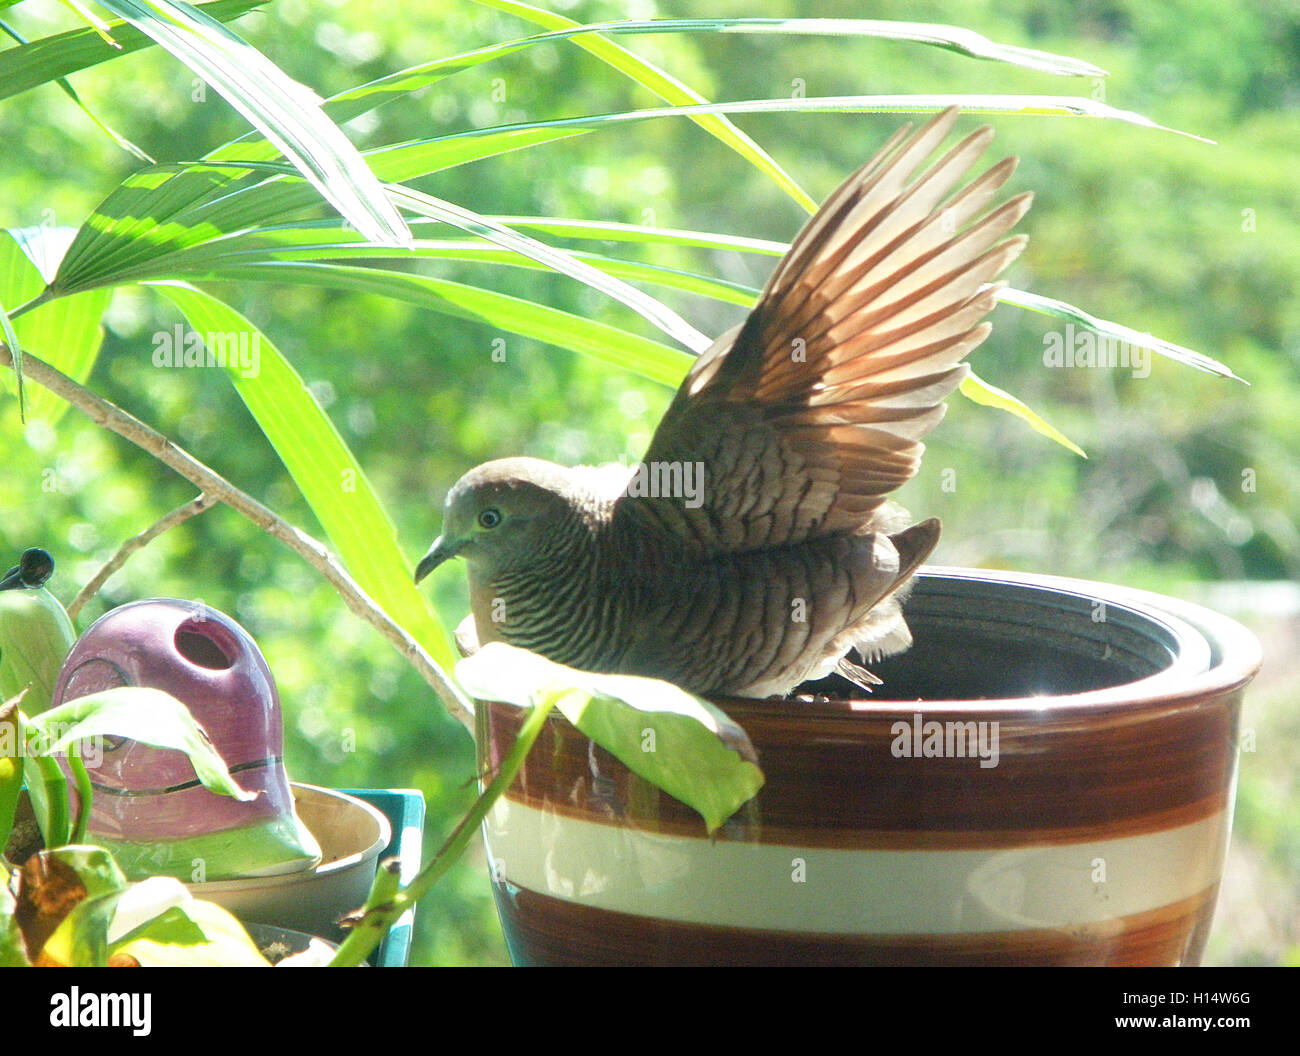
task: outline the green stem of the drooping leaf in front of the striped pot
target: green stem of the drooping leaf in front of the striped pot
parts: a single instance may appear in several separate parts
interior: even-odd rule
[[[374,880],[370,897],[367,899],[365,912],[338,948],[334,960],[330,961],[330,968],[355,968],[361,964],[369,952],[378,945],[380,939],[384,938],[384,934],[393,926],[396,918],[422,899],[429,888],[441,879],[442,874],[451,867],[452,862],[460,857],[469,840],[473,839],[474,832],[478,831],[482,819],[488,817],[488,812],[491,810],[493,804],[515,783],[519,769],[524,765],[524,759],[532,750],[537,736],[542,732],[546,718],[554,706],[554,696],[547,696],[533,705],[532,711],[529,711],[528,718],[524,719],[524,724],[519,730],[519,736],[515,739],[510,752],[506,754],[506,759],[497,771],[497,776],[493,778],[491,783],[474,800],[473,806],[469,808],[469,813],[460,819],[460,823],[447,836],[446,843],[438,848],[438,853],[433,856],[433,860],[420,870],[420,874],[410,884],[389,899],[377,897],[376,891],[381,888],[381,884],[387,883],[381,870],[381,875]],[[376,904],[372,905],[372,903]]]

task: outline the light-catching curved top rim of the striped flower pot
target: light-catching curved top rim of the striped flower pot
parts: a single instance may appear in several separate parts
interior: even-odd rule
[[[1150,590],[1140,590],[1119,584],[1070,576],[1041,575],[1037,572],[1011,572],[994,568],[963,568],[958,566],[923,566],[916,572],[920,581],[957,580],[976,584],[1008,584],[1053,593],[1084,597],[1122,605],[1165,627],[1190,632],[1193,641],[1204,642],[1209,650],[1208,667],[1183,674],[1174,670],[1121,683],[1102,689],[1080,693],[1043,694],[1032,697],[988,697],[979,700],[910,700],[888,701],[872,697],[853,700],[816,700],[792,702],[781,700],[751,700],[744,697],[712,697],[715,704],[732,713],[749,715],[806,714],[812,718],[872,715],[911,717],[927,714],[1000,714],[1020,713],[1026,718],[1052,709],[1071,713],[1109,711],[1115,709],[1144,709],[1195,705],[1199,700],[1231,692],[1245,685],[1258,671],[1262,661],[1260,640],[1253,632],[1230,616],[1195,602],[1182,601]],[[906,602],[904,605],[906,613]],[[744,722],[744,719],[741,719]]]

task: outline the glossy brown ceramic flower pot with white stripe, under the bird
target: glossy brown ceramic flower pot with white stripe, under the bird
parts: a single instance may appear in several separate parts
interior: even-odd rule
[[[1256,639],[1080,580],[923,572],[870,700],[724,700],[712,839],[559,715],[484,825],[516,964],[1196,964]],[[517,709],[478,707],[480,762]]]

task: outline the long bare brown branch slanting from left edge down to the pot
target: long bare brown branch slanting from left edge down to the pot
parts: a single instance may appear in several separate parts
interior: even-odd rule
[[[0,367],[13,367],[13,355],[8,345],[4,343],[0,343]],[[107,399],[95,395],[90,389],[78,385],[68,375],[55,369],[31,352],[23,354],[22,369],[27,377],[61,399],[68,401],[96,425],[103,425],[105,429],[129,440],[136,447],[140,447],[159,462],[178,472],[203,493],[213,495],[218,502],[224,502],[231,510],[243,514],[248,520],[266,532],[266,535],[283,542],[339,592],[343,602],[355,615],[384,635],[406,657],[411,666],[420,672],[420,676],[433,687],[433,691],[438,694],[438,700],[442,701],[443,706],[456,719],[467,726],[472,724],[473,709],[456,684],[438,667],[424,646],[411,637],[406,629],[394,623],[393,618],[378,606],[374,598],[358,585],[356,580],[347,574],[343,566],[339,564],[338,558],[324,544],[277,516],[252,495],[240,492],[220,473],[204,466],[194,455],[173,443],[156,429],[151,429],[139,419],[133,417]]]

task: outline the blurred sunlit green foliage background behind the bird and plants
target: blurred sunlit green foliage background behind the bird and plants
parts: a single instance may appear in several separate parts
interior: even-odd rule
[[[975,369],[1080,443],[1082,460],[1022,423],[954,398],[920,477],[901,495],[941,516],[936,563],[1023,568],[1209,600],[1265,640],[1248,696],[1232,858],[1209,960],[1300,962],[1300,8],[1265,0],[1065,3],[564,3],[584,22],[692,16],[870,17],[961,25],[1092,61],[1102,82],[1053,78],[902,43],[826,36],[638,36],[621,43],[710,99],[870,92],[1104,98],[1217,140],[1117,122],[994,117],[1018,153],[1011,190],[1037,198],[1013,285],[1057,297],[1226,362],[1251,386],[1164,360],[1128,371],[1046,369],[1060,324],[1010,307]],[[73,25],[53,3],[10,12],[29,38]],[[238,33],[321,95],[416,62],[530,35],[469,0],[273,0]],[[152,49],[73,78],[109,124],[159,160],[194,159],[244,130],[194,75]],[[399,142],[441,130],[655,105],[573,46],[542,46],[436,85],[348,130]],[[897,116],[738,117],[815,198],[900,124]],[[963,127],[976,118],[963,118]],[[136,163],[53,86],[0,103],[0,226],[77,226]],[[690,122],[641,122],[451,169],[419,182],[490,215],[556,215],[789,239],[798,208]],[[646,259],[759,286],[762,257],[659,250]],[[434,265],[424,265],[433,268]],[[540,272],[437,265],[437,274],[649,333],[630,312]],[[224,289],[312,385],[387,506],[412,559],[437,533],[446,489],[508,454],[636,459],[671,393],[569,352],[378,298],[316,289]],[[740,310],[662,295],[719,333]],[[151,336],[179,321],[161,299],[118,295],[91,386],[174,437],[290,520],[321,535],[220,371],[152,365]],[[493,356],[504,339],[504,362]],[[499,358],[498,358],[499,359]],[[64,601],[129,536],[194,495],[127,443],[68,414],[18,424],[0,399],[0,555],[44,545]],[[952,471],[945,473],[944,471]],[[433,594],[448,626],[464,574]],[[286,714],[290,772],[335,787],[425,793],[436,845],[473,799],[468,733],[374,632],[296,557],[218,507],[155,541],[109,580],[79,624],[121,602],[202,598],[261,644]],[[347,750],[355,743],[355,750]],[[415,964],[499,964],[481,852],[421,905]]]

